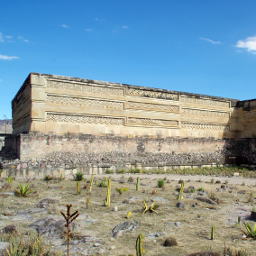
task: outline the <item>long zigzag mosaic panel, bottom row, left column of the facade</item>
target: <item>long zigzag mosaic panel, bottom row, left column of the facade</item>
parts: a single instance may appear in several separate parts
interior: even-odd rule
[[[47,121],[69,123],[96,123],[110,125],[124,125],[123,118],[81,115],[81,114],[53,114],[47,113]]]

